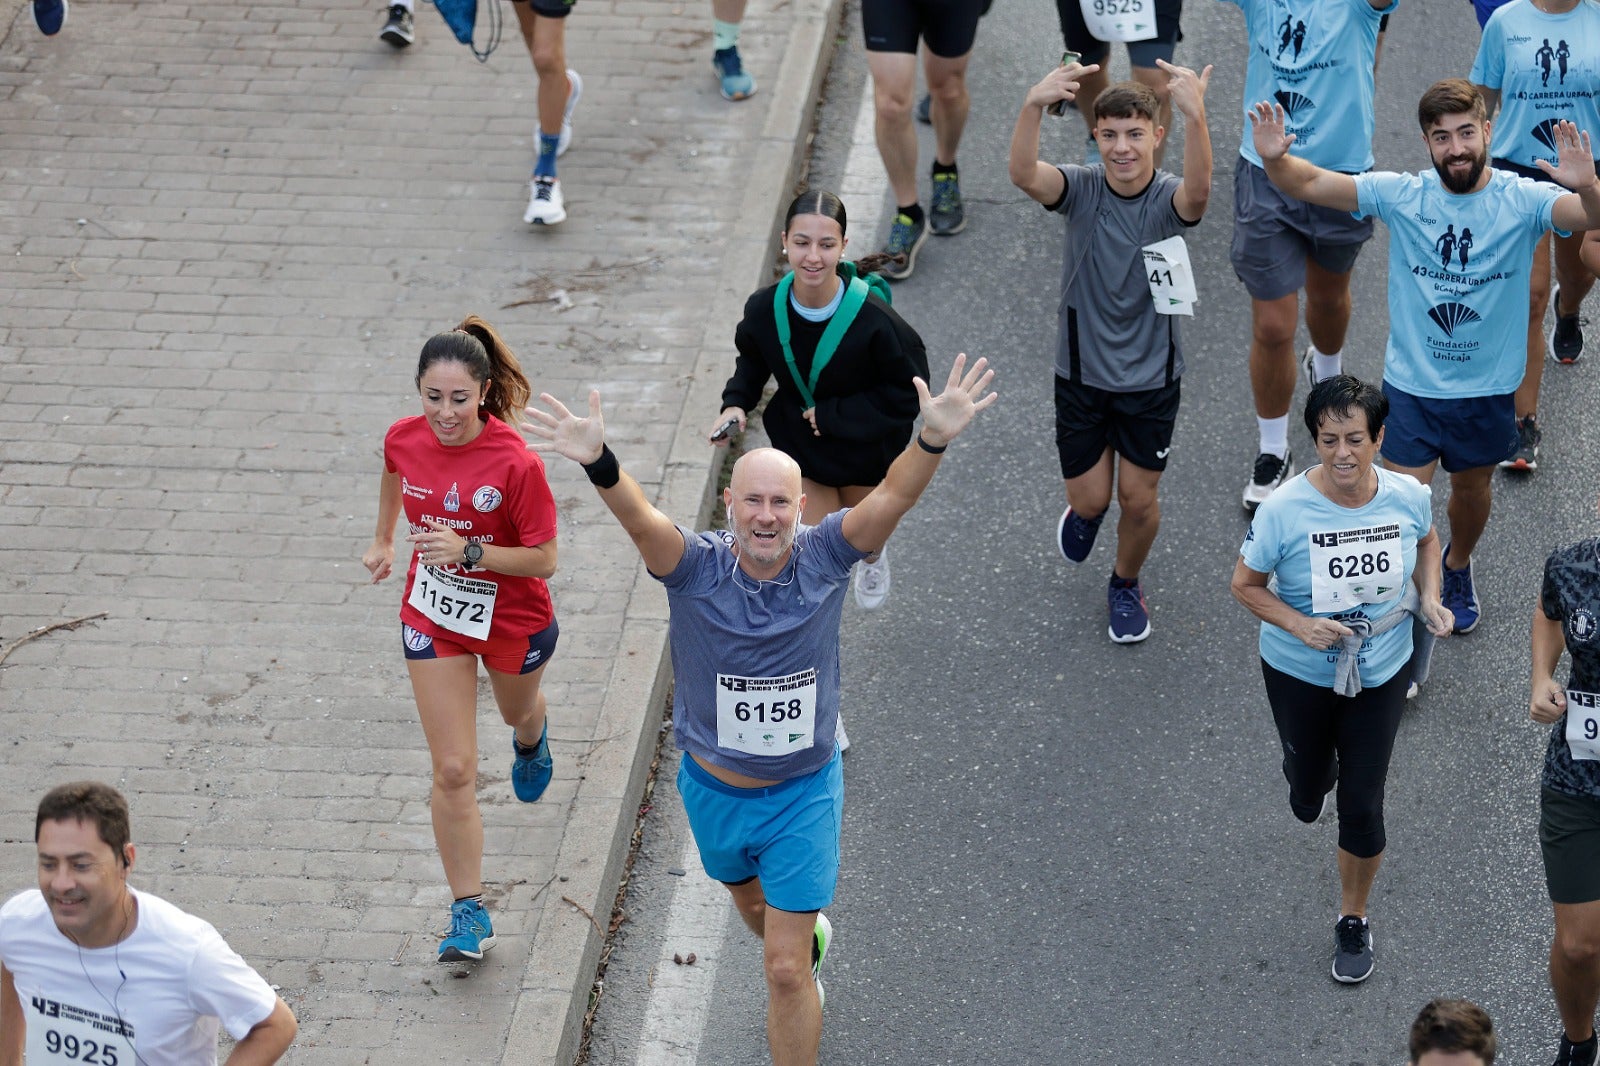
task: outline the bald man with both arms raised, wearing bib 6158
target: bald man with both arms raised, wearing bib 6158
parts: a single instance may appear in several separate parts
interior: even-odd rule
[[[822,1039],[832,927],[821,911],[838,880],[838,619],[850,570],[883,547],[946,447],[994,403],[986,360],[965,365],[957,355],[938,397],[914,381],[922,432],[866,499],[805,528],[800,467],[782,451],[744,455],[723,490],[730,528],[694,533],[621,471],[598,392],[587,418],[547,394],[549,410],[528,408],[530,432],[582,464],[667,589],[674,731],[688,752],[678,791],[706,872],[762,938],[776,1066],[813,1066]]]

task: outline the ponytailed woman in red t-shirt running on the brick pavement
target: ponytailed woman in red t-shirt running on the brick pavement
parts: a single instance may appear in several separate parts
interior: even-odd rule
[[[477,797],[478,659],[512,727],[512,787],[531,804],[550,783],[539,679],[558,634],[555,499],[544,463],[517,431],[528,379],[490,323],[467,317],[422,346],[422,413],[384,437],[378,531],[362,563],[373,583],[395,557],[395,522],[413,546],[400,634],[434,763],[434,840],[454,903],[440,962],[494,946],[483,909],[483,820]]]

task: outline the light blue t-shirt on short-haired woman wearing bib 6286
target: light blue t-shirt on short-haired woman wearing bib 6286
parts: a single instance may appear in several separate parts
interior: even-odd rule
[[[1315,467],[1314,467],[1315,469]],[[1432,491],[1410,474],[1378,469],[1378,493],[1365,507],[1341,507],[1301,474],[1266,498],[1238,549],[1245,565],[1270,573],[1278,599],[1317,618],[1378,619],[1400,610],[1416,570],[1416,543],[1434,528]],[[1315,570],[1315,573],[1314,573]],[[1349,589],[1381,599],[1362,602]],[[1330,600],[1342,605],[1320,610]],[[1309,685],[1333,687],[1338,650],[1307,648],[1286,629],[1261,623],[1261,658]],[[1411,626],[1362,642],[1362,685],[1373,688],[1411,658]]]

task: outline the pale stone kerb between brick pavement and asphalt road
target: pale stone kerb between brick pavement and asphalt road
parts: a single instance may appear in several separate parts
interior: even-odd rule
[[[0,0],[3,2],[3,0]],[[834,51],[843,0],[824,0],[797,13],[789,46],[770,90],[758,154],[738,202],[738,222],[715,262],[726,279],[707,307],[699,357],[688,383],[678,427],[662,466],[656,506],[664,514],[704,523],[722,453],[706,445],[704,423],[717,411],[733,352],[733,327],[754,288],[771,277],[778,227],[805,162],[816,98]],[[621,655],[606,683],[595,727],[600,744],[586,765],[568,815],[552,884],[536,908],[533,941],[501,1055],[502,1066],[568,1066],[578,1055],[589,991],[603,935],[627,858],[638,799],[654,749],[659,711],[672,675],[667,659],[666,594],[643,563],[634,570],[622,624]],[[646,666],[646,664],[654,664]],[[621,789],[616,789],[621,783]],[[562,896],[589,908],[582,914]]]

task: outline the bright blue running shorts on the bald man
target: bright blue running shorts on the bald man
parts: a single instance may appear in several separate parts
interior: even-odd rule
[[[821,770],[765,789],[725,784],[685,752],[678,794],[701,864],[714,879],[742,885],[760,877],[766,906],[795,914],[834,901],[845,815],[838,749]]]

